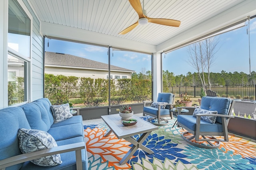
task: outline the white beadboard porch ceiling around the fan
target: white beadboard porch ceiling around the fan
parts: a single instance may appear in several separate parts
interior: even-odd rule
[[[40,21],[150,45],[159,45],[172,39],[175,35],[244,2],[244,0],[144,0],[144,9],[150,18],[180,20],[180,27],[148,23],[144,26],[138,25],[125,35],[118,35],[120,31],[138,20],[138,15],[128,0],[28,1]],[[142,4],[142,0],[140,2]]]

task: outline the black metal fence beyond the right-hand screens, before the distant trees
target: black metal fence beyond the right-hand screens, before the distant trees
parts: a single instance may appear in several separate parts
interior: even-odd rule
[[[206,86],[206,90],[209,87]],[[201,86],[188,87],[170,87],[168,92],[176,94],[187,94],[190,97],[200,97]],[[218,97],[227,97],[233,99],[256,100],[256,85],[247,86],[211,86],[211,90],[217,93]],[[179,94],[179,95],[177,95]]]

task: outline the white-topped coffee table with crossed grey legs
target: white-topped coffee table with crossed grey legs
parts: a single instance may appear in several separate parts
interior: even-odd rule
[[[157,130],[158,127],[149,123],[148,121],[144,121],[137,116],[132,116],[132,119],[136,119],[138,122],[135,125],[124,126],[122,124],[122,119],[118,114],[113,115],[103,115],[101,116],[104,122],[110,128],[109,131],[104,136],[108,136],[111,132],[113,132],[118,139],[125,139],[126,141],[133,144],[132,148],[126,153],[126,155],[120,160],[120,165],[125,164],[131,156],[136,152],[138,148],[144,150],[148,154],[154,153],[152,150],[148,149],[142,143],[145,139],[150,135],[150,133],[154,130]],[[143,133],[143,134],[142,134]],[[142,134],[141,137],[136,141],[132,138],[134,135]]]

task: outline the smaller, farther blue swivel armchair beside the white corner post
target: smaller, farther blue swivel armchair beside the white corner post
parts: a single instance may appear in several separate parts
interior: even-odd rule
[[[172,93],[159,93],[156,102],[143,101],[143,115],[152,116],[152,118],[149,118],[147,121],[158,126],[167,125],[169,121],[162,119],[162,117],[171,117],[172,119],[172,112],[170,109],[172,108],[174,97],[175,95]],[[146,106],[148,103],[151,103],[151,105]]]

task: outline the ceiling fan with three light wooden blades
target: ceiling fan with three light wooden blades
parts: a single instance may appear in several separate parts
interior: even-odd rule
[[[151,23],[157,23],[161,25],[167,25],[167,26],[172,26],[172,27],[179,27],[180,26],[180,21],[177,20],[170,20],[170,19],[164,19],[164,18],[149,18],[147,16],[146,10],[142,10],[140,0],[129,0],[130,4],[132,5],[132,8],[138,13],[139,19],[136,21],[134,24],[130,25],[123,31],[121,31],[118,34],[126,34],[132,29],[134,29],[137,25],[146,25],[148,22]],[[144,0],[143,0],[143,8],[144,8]]]

